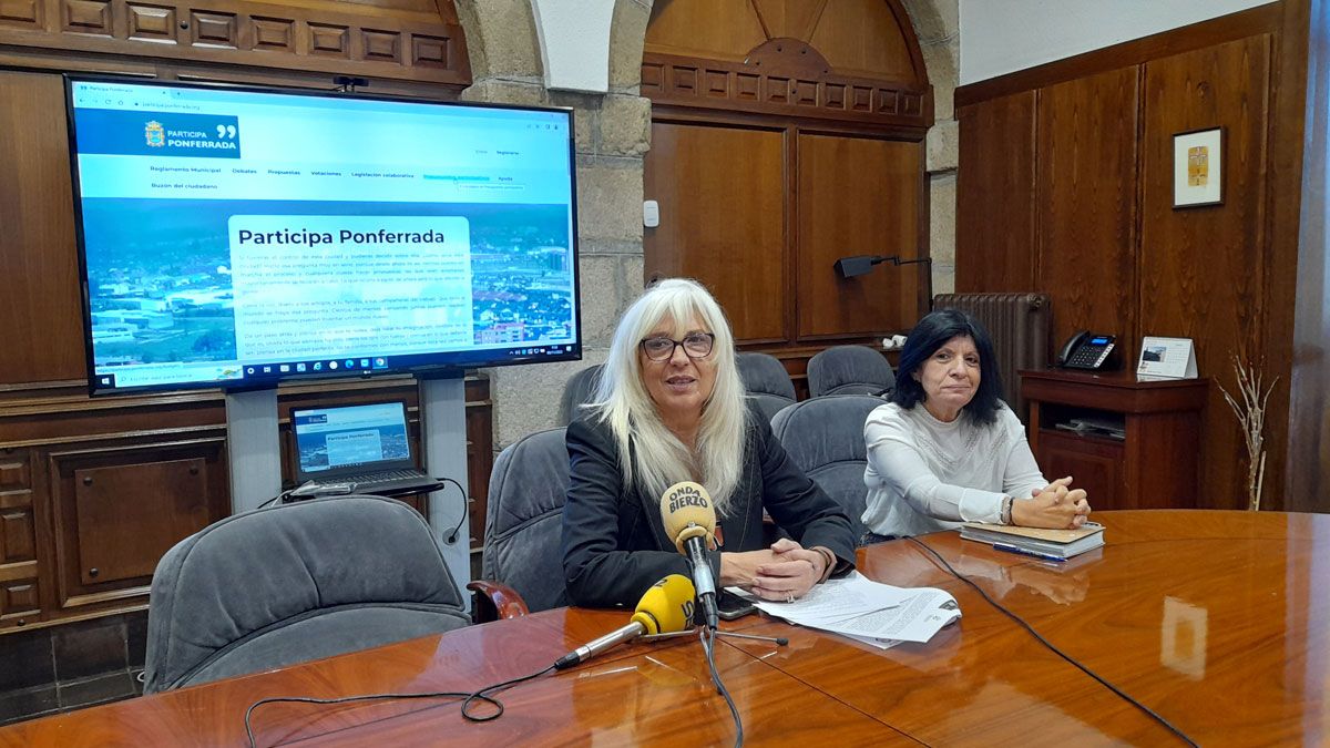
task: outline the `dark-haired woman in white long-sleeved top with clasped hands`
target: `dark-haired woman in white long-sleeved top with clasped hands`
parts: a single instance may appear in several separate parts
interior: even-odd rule
[[[926,315],[900,351],[891,402],[868,415],[867,542],[959,522],[1080,527],[1085,491],[1044,479],[1025,429],[999,398],[988,333],[963,311]]]

